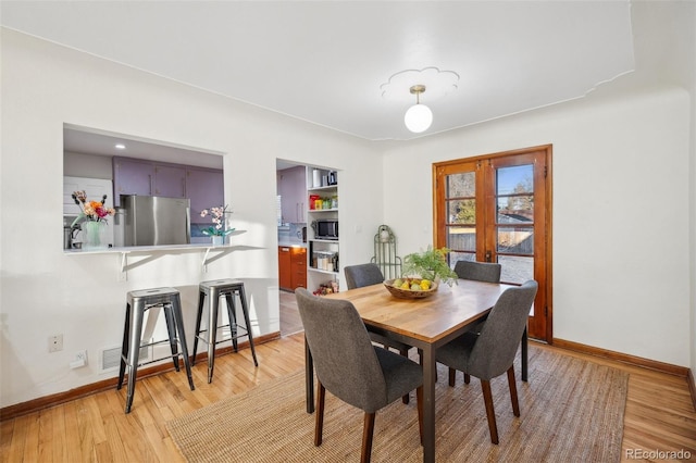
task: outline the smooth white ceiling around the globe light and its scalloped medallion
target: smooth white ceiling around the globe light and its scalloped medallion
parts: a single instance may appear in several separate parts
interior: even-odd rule
[[[2,25],[368,140],[582,98],[635,68],[629,1],[2,1]],[[428,70],[425,75],[402,71]],[[459,76],[448,92],[437,71]],[[439,74],[451,76],[451,73]],[[408,87],[434,113],[410,134]],[[384,93],[384,95],[383,95]]]

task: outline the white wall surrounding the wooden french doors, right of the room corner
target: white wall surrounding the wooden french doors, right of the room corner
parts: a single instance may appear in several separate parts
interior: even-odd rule
[[[424,248],[433,162],[552,143],[554,337],[689,366],[692,124],[688,93],[663,89],[386,149],[385,221]]]

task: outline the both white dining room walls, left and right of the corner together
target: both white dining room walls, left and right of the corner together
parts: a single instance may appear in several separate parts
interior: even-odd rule
[[[339,171],[345,266],[372,256],[383,223],[400,255],[432,242],[433,162],[552,143],[555,336],[695,366],[696,161],[683,90],[368,143],[7,29],[1,46],[0,406],[113,376],[100,375],[95,358],[120,345],[132,289],[181,289],[190,345],[198,281],[240,277],[254,331],[277,331],[276,158]],[[134,258],[127,281],[117,279],[117,255],[64,255],[64,123],[227,153],[226,202],[247,230],[238,247],[207,274],[196,252]],[[47,338],[59,333],[64,350],[49,354]],[[82,349],[90,365],[70,370]]]

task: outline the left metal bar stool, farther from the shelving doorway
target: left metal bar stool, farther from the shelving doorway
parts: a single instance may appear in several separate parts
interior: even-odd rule
[[[142,318],[145,317],[146,311],[156,308],[162,308],[164,311],[169,339],[144,345],[140,339],[142,336]],[[140,355],[140,349],[144,347],[169,342],[172,350],[174,367],[177,372],[179,371],[178,356],[181,355],[184,359],[184,365],[186,366],[188,385],[191,390],[195,389],[194,378],[191,376],[191,366],[188,359],[188,349],[186,347],[186,334],[184,331],[182,303],[179,293],[176,289],[154,288],[128,292],[126,297],[126,322],[123,329],[123,346],[121,348],[121,370],[119,372],[119,386],[116,387],[116,389],[121,389],[121,386],[123,386],[123,378],[127,366],[128,385],[126,395],[126,413],[130,413],[138,366],[166,359],[166,356],[164,356],[139,363],[138,356]],[[181,352],[178,351],[177,343],[182,348]]]

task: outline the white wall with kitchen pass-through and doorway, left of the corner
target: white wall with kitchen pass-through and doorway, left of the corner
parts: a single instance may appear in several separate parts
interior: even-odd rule
[[[8,29],[1,46],[0,406],[114,376],[98,353],[121,345],[128,290],[178,288],[190,346],[198,283],[241,278],[254,333],[278,331],[276,158],[339,170],[340,217],[363,230],[341,240],[341,264],[372,256],[382,165],[371,145]],[[65,255],[64,123],[227,153],[225,199],[247,230],[237,248],[207,274],[201,252],[132,256],[127,281],[117,254]],[[53,334],[64,350],[48,353]],[[89,365],[70,370],[83,349]]]

